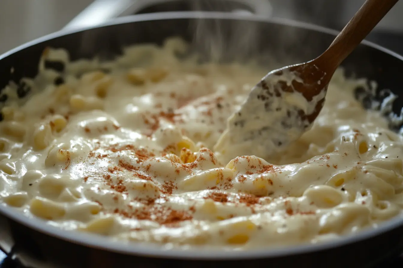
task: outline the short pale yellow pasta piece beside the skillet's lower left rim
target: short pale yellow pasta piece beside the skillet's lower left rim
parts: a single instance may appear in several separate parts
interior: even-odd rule
[[[33,198],[29,210],[33,215],[48,220],[60,219],[66,214],[62,204],[42,197]]]

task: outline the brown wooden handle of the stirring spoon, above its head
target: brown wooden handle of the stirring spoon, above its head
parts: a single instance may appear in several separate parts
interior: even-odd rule
[[[328,73],[332,71],[330,74],[332,75],[397,1],[399,0],[366,0],[330,47],[317,58],[318,65]]]

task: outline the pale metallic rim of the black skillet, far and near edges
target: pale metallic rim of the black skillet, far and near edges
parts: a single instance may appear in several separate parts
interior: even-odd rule
[[[271,23],[276,25],[285,25],[290,27],[295,27],[298,29],[312,30],[328,35],[337,35],[339,31],[328,29],[326,27],[317,26],[311,23],[303,23],[295,20],[289,20],[284,18],[264,18],[262,16],[250,16],[243,14],[233,14],[226,12],[199,12],[199,11],[187,11],[187,12],[160,12],[160,13],[150,13],[150,14],[139,14],[132,16],[120,17],[112,20],[111,22],[105,23],[103,25],[98,25],[96,27],[83,27],[81,29],[74,30],[61,30],[49,35],[45,35],[33,41],[29,41],[23,45],[11,49],[10,51],[0,55],[1,60],[9,55],[17,53],[23,49],[27,49],[32,45],[48,41],[50,39],[55,39],[64,35],[69,35],[73,33],[78,33],[81,31],[97,29],[102,27],[107,27],[110,25],[119,25],[126,23],[135,23],[141,21],[150,20],[169,20],[169,19],[220,19],[220,20],[247,20],[255,21],[261,23]],[[377,49],[383,53],[389,54],[401,61],[403,61],[403,56],[395,53],[389,49],[386,49],[380,45],[376,45],[369,41],[363,41],[362,44]],[[170,258],[170,259],[183,259],[183,260],[246,260],[246,259],[259,259],[259,258],[278,258],[290,255],[307,254],[312,252],[320,252],[323,250],[329,250],[332,248],[338,248],[358,241],[363,241],[370,239],[382,233],[386,233],[393,229],[403,226],[403,217],[395,217],[389,221],[381,224],[381,226],[376,229],[366,229],[360,231],[356,235],[349,235],[347,237],[341,237],[339,239],[332,239],[330,241],[317,243],[317,244],[300,244],[285,246],[280,249],[266,248],[253,251],[237,251],[237,250],[216,250],[212,248],[211,250],[200,250],[199,248],[194,249],[169,249],[163,245],[156,245],[153,243],[135,243],[135,242],[122,242],[122,241],[112,241],[108,237],[102,237],[100,235],[94,235],[90,233],[82,233],[79,231],[67,231],[48,225],[46,221],[35,218],[27,217],[21,212],[17,211],[12,207],[7,207],[5,204],[0,204],[0,214],[6,216],[7,218],[20,223],[29,229],[38,231],[45,235],[50,235],[58,239],[69,241],[78,245],[83,245],[89,248],[96,248],[100,250],[106,250],[108,252],[115,252],[126,255],[135,255],[143,257],[152,258]]]

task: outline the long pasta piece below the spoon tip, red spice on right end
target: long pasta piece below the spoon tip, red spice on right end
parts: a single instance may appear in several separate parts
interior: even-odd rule
[[[181,181],[180,184],[183,189],[197,191],[206,187],[216,186],[226,178],[234,178],[234,172],[231,169],[214,168],[190,176]]]

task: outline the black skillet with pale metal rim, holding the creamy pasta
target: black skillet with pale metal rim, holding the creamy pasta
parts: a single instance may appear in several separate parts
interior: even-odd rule
[[[242,32],[240,27],[249,31]],[[249,33],[247,38],[242,39],[246,32]],[[222,61],[247,59],[269,51],[270,55],[276,55],[278,65],[283,66],[316,57],[335,35],[336,31],[306,23],[220,12],[128,16],[102,27],[60,31],[1,55],[0,88],[10,80],[19,83],[22,77],[35,76],[39,57],[46,47],[67,49],[72,60],[94,56],[112,59],[124,46],[162,44],[167,37],[181,36],[193,41],[193,49],[208,57],[212,54],[209,44],[219,39]],[[253,45],[249,46],[250,43]],[[347,76],[369,78],[376,81],[380,89],[401,93],[403,57],[392,51],[364,41],[342,66]],[[403,99],[397,98],[393,106],[395,113],[399,114],[402,106]],[[248,252],[183,251],[150,244],[118,243],[104,237],[64,231],[0,204],[0,247],[15,254],[21,262],[41,268],[56,264],[57,267],[370,267],[403,252],[403,218],[392,219],[377,229],[316,245]]]

